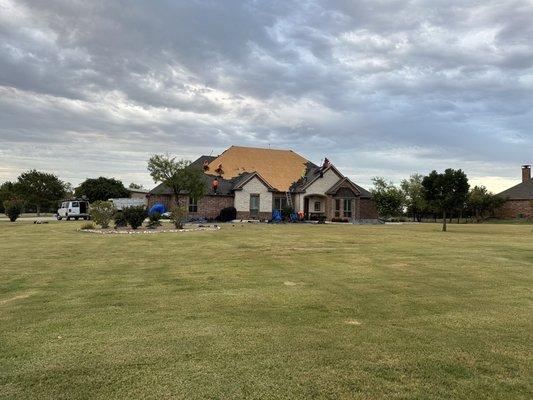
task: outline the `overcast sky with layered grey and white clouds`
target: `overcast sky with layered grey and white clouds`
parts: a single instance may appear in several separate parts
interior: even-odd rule
[[[533,162],[533,0],[0,0],[0,181],[151,187],[146,160],[235,145],[358,183]]]

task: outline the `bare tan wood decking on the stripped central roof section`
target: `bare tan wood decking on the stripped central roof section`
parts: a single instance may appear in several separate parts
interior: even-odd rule
[[[209,163],[209,172],[214,173],[222,165],[222,177],[229,180],[255,171],[273,188],[285,192],[300,179],[307,163],[292,150],[231,146]]]

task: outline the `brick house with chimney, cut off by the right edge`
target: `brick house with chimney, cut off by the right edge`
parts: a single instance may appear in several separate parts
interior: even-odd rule
[[[498,210],[501,218],[533,218],[533,179],[531,165],[522,166],[522,182],[499,193],[506,199]]]

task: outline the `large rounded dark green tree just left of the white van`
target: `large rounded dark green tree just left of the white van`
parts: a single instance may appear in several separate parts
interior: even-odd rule
[[[26,203],[35,206],[39,216],[43,207],[56,204],[65,196],[65,183],[54,174],[32,169],[20,174],[16,192]]]

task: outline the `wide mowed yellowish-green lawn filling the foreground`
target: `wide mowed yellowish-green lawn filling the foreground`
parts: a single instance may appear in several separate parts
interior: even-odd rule
[[[531,399],[533,227],[0,222],[0,398]]]

